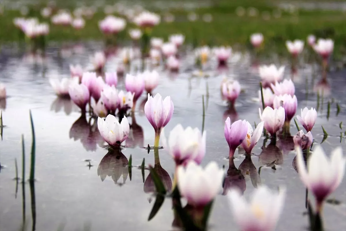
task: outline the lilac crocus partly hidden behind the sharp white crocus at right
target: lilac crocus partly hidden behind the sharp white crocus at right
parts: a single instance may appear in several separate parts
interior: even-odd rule
[[[292,97],[291,95],[281,95],[275,96],[273,101],[273,107],[279,108],[283,107],[285,109],[285,121],[291,121],[295,112],[297,112],[298,100],[295,95]]]

